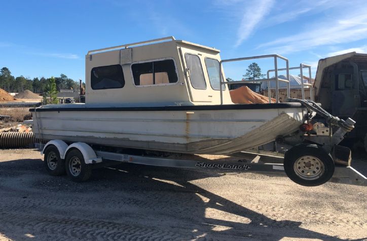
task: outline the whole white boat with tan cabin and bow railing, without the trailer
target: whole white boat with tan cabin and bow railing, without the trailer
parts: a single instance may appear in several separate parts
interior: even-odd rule
[[[277,95],[276,103],[235,104],[222,66],[251,58],[288,66],[286,58],[221,60],[219,52],[173,36],[89,51],[86,103],[30,109],[33,132],[43,141],[196,154],[235,153],[305,134],[300,126],[316,114],[309,106],[280,103]],[[261,81],[277,87],[287,79],[276,72]]]

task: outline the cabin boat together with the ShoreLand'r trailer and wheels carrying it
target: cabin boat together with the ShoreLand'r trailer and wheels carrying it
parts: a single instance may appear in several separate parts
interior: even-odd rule
[[[296,183],[316,186],[332,178],[339,170],[336,165],[350,166],[350,149],[338,143],[353,130],[354,120],[332,116],[312,95],[310,100],[289,98],[288,59],[273,54],[223,60],[219,52],[173,36],[89,51],[85,103],[30,109],[40,148],[46,143],[41,152],[46,170],[54,176],[66,172],[81,182],[91,176],[92,167],[108,165],[111,160],[168,167],[235,167],[284,170]],[[248,80],[227,81],[223,63],[261,58],[274,60],[275,77],[251,83],[275,82],[274,91],[268,84],[268,97],[238,96],[249,89],[231,94],[230,85]],[[285,62],[285,77],[278,75],[282,70],[278,61]],[[280,102],[280,82],[287,85],[286,102]],[[255,100],[261,103],[253,103]],[[324,123],[314,122],[316,113]],[[282,156],[283,165],[258,163],[258,155],[242,159],[253,148],[257,154],[266,154],[259,146],[267,143],[274,146],[271,156]],[[281,153],[276,149],[278,143]],[[238,161],[224,164],[204,158],[197,162],[193,156],[200,154]]]

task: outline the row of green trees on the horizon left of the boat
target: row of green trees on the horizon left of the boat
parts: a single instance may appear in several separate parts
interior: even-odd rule
[[[48,88],[47,85],[50,83],[52,77],[45,78],[27,78],[23,75],[14,77],[11,71],[7,67],[3,67],[0,70],[0,88],[4,89],[9,93],[20,93],[25,90],[30,90],[33,93],[44,93]],[[65,74],[60,74],[59,77],[54,78],[56,84],[56,90],[71,88],[79,90],[79,82],[74,79],[68,78]]]

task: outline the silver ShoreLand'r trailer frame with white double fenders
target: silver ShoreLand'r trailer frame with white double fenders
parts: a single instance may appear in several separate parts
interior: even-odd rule
[[[52,140],[46,145],[36,144],[36,147],[41,150],[41,154],[44,154],[48,146],[55,146],[62,160],[65,160],[68,151],[72,149],[79,150],[84,157],[85,164],[92,167],[103,167],[104,164],[108,164],[108,161],[114,161],[117,163],[131,163],[138,165],[148,165],[156,167],[171,167],[171,168],[191,168],[191,169],[208,169],[208,170],[222,170],[225,172],[250,172],[250,173],[265,173],[284,175],[283,159],[281,153],[274,153],[270,155],[252,153],[252,152],[237,152],[228,155],[232,160],[212,160],[212,159],[193,159],[193,158],[172,158],[152,155],[137,155],[128,153],[118,153],[113,151],[104,151],[93,149],[93,147],[87,143],[76,142],[67,145],[62,140]],[[171,153],[175,154],[175,153]],[[181,153],[176,153],[180,155]],[[223,159],[223,158],[222,158]],[[234,161],[236,159],[237,161]],[[334,175],[331,182],[344,183],[351,185],[367,186],[367,178],[361,173],[356,171],[352,167],[335,166]]]

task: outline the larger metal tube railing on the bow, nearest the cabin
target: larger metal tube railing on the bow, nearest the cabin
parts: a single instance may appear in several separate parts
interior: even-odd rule
[[[219,77],[219,79],[221,81],[219,81],[221,83],[221,85],[219,85],[219,90],[221,92],[221,105],[223,104],[223,87],[222,85],[231,85],[231,84],[240,84],[240,83],[248,83],[248,82],[268,82],[268,98],[269,98],[269,103],[271,103],[271,88],[270,88],[270,82],[271,81],[275,81],[275,99],[276,99],[276,103],[279,103],[279,81],[281,82],[285,82],[287,83],[287,97],[290,97],[290,86],[289,86],[289,63],[288,63],[288,59],[277,55],[277,54],[271,54],[271,55],[259,55],[259,56],[252,56],[252,57],[243,57],[243,58],[236,58],[236,59],[224,59],[221,60],[219,62],[219,76],[222,76],[222,64],[226,63],[226,62],[235,62],[235,61],[242,61],[242,60],[251,60],[251,59],[265,59],[265,58],[274,58],[274,72],[275,72],[275,77],[274,78],[264,78],[264,79],[248,79],[245,81],[223,81],[222,82],[222,78]],[[282,59],[285,61],[285,69],[286,70],[286,79],[282,79],[278,77],[278,58]]]

